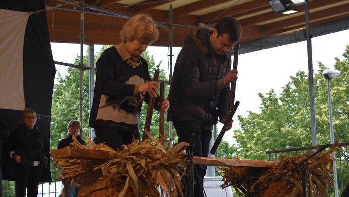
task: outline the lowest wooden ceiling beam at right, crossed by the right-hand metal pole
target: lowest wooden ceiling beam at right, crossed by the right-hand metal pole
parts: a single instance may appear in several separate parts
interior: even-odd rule
[[[337,14],[345,13],[348,11],[349,11],[349,4],[340,5],[337,7],[332,7],[329,9],[323,9],[321,11],[312,12],[309,14],[309,19],[311,22],[313,20],[319,20],[319,19],[326,18],[326,17],[331,16],[331,15],[337,15]],[[280,21],[273,22],[273,23],[269,23],[269,24],[263,25],[261,27],[262,27],[263,31],[271,31],[274,29],[282,29],[283,27],[292,26],[292,25],[300,24],[300,23],[302,23],[302,24],[305,23],[304,15],[296,16],[296,17],[289,18],[286,20],[280,20]]]

